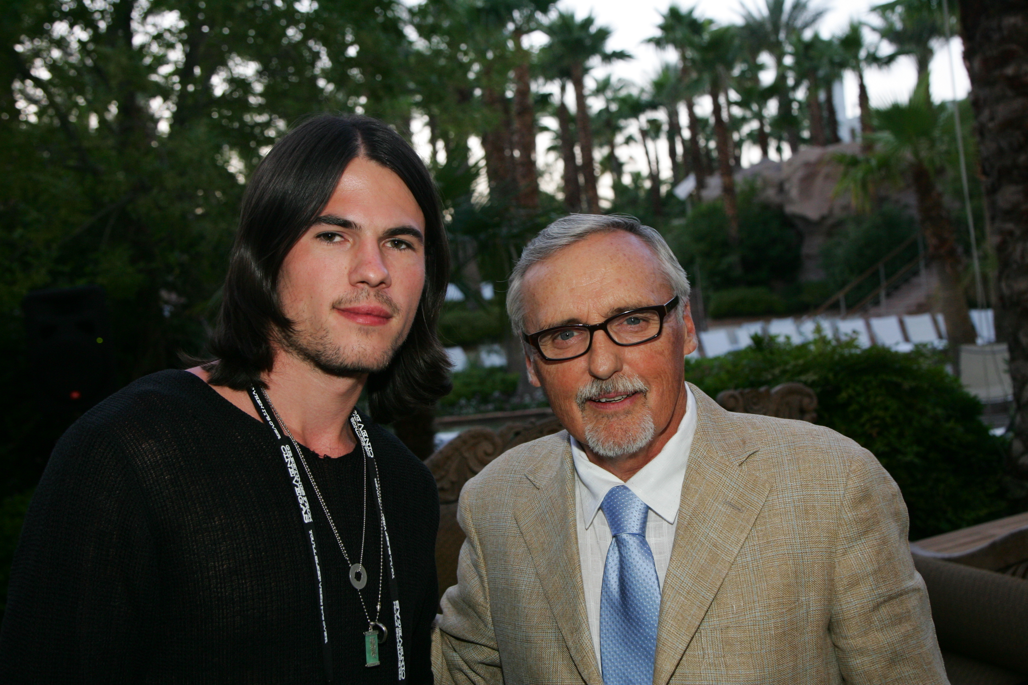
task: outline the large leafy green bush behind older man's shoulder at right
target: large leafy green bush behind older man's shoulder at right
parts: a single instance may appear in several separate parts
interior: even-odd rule
[[[728,388],[806,383],[817,422],[871,450],[900,485],[911,539],[1015,512],[1002,485],[1004,442],[982,423],[981,403],[944,369],[940,352],[909,353],[819,338],[801,345],[758,337],[686,378],[715,396]]]

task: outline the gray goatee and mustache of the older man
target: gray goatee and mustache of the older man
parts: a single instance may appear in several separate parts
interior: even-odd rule
[[[585,443],[597,456],[604,459],[621,459],[634,454],[653,442],[657,433],[653,422],[653,412],[647,404],[649,387],[637,376],[618,374],[605,380],[593,379],[579,389],[575,403],[582,413],[585,427]],[[642,395],[642,406],[638,416],[595,416],[587,413],[586,403],[590,398],[611,392],[637,392]]]

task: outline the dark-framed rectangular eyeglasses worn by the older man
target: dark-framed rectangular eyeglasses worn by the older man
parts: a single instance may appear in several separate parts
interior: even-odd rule
[[[582,356],[592,347],[592,334],[602,331],[615,345],[631,347],[658,337],[664,330],[664,316],[678,306],[675,295],[666,304],[630,309],[615,314],[602,324],[572,324],[522,334],[524,341],[539,350],[548,361],[563,361]]]

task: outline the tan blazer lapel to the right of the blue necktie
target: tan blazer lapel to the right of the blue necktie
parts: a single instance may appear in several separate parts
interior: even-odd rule
[[[661,588],[654,683],[666,685],[713,602],[771,489],[742,463],[759,445],[695,385],[697,426]]]

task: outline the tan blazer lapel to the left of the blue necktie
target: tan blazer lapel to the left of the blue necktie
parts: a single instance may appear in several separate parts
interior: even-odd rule
[[[579,674],[590,685],[602,685],[582,588],[571,446],[565,431],[550,440],[559,441],[559,447],[547,451],[525,473],[535,488],[514,516]]]

